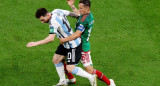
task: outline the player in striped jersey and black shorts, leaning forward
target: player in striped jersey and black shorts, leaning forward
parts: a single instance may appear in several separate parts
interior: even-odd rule
[[[45,8],[39,8],[36,11],[36,18],[38,18],[42,23],[49,23],[49,36],[43,40],[28,43],[27,47],[49,43],[54,40],[55,35],[57,35],[58,38],[65,38],[73,34],[73,30],[71,29],[70,24],[66,18],[68,15],[73,16],[74,14],[69,11],[60,9],[55,9],[50,13]],[[75,66],[75,64],[78,64],[79,60],[81,59],[81,39],[79,37],[74,40],[65,42],[63,45],[60,44],[55,51],[53,56],[53,63],[55,64],[56,70],[60,77],[59,83],[56,86],[68,85],[65,79],[64,65],[62,63],[62,59],[65,56],[67,57],[66,68],[69,73],[85,77],[89,79],[92,86],[96,86],[95,75],[91,75],[84,71],[82,68]]]

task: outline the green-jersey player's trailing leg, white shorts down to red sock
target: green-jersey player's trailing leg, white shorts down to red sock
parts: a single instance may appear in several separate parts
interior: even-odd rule
[[[92,63],[92,60],[91,60],[90,51],[82,52],[81,62],[83,63],[83,66],[85,67],[85,70],[88,73],[96,74],[99,80],[102,80],[107,85],[110,85],[110,80],[102,72],[93,68],[93,63]]]

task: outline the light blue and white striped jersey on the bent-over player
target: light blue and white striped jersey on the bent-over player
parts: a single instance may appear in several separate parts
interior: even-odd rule
[[[73,30],[67,20],[69,11],[55,9],[51,13],[51,19],[49,21],[50,34],[57,34],[57,38],[65,38],[73,34]],[[66,42],[63,46],[67,49],[75,48],[81,43],[81,38],[74,39]]]

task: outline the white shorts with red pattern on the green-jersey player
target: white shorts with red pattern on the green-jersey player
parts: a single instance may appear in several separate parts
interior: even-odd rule
[[[90,66],[90,65],[93,66],[90,51],[87,51],[87,52],[82,51],[81,62],[82,62],[84,67]]]

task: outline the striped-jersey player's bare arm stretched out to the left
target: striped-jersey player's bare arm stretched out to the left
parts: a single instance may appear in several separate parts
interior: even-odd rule
[[[27,47],[33,47],[33,46],[43,45],[43,44],[47,44],[49,42],[52,42],[52,41],[54,41],[55,35],[56,34],[49,34],[49,36],[46,37],[43,40],[40,40],[40,41],[37,41],[37,42],[29,42],[27,44]]]

